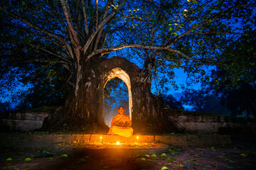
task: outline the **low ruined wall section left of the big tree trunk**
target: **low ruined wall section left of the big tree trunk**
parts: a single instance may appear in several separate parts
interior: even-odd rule
[[[7,118],[0,119],[1,131],[25,131],[30,132],[39,129],[43,120],[49,114],[39,113],[9,113]]]

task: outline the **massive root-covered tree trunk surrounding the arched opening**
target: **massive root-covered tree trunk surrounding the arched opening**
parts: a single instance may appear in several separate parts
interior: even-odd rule
[[[82,72],[79,77],[78,93],[75,88],[65,102],[64,113],[53,115],[58,125],[63,123],[72,128],[86,128],[84,132],[107,132],[109,129],[104,121],[105,84],[114,77],[119,77],[116,70],[125,72],[128,77],[132,98],[131,113],[132,127],[135,133],[176,132],[176,128],[162,111],[159,99],[151,94],[151,79],[148,79],[142,69],[122,57],[112,57],[109,60],[93,64],[82,63]],[[125,81],[123,79],[123,81]],[[51,118],[50,118],[51,119]],[[49,120],[50,120],[49,119]],[[54,125],[56,121],[52,121]],[[46,123],[44,123],[46,124]]]

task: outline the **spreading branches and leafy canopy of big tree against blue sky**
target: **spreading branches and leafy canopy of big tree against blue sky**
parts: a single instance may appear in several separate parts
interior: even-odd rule
[[[18,77],[37,89],[48,82],[44,88],[59,89],[60,98],[72,87],[76,97],[84,70],[114,55],[138,64],[159,87],[175,85],[174,68],[206,81],[208,66],[240,68],[220,54],[241,37],[255,37],[255,9],[252,0],[4,0],[1,92]],[[255,67],[254,58],[243,65]],[[234,81],[245,77],[237,73]]]

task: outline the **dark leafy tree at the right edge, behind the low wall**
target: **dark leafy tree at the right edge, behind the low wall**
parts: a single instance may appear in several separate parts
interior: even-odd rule
[[[242,37],[238,42],[230,44],[222,57],[230,67],[218,67],[212,73],[210,87],[233,116],[255,117],[256,114],[255,43],[256,38]]]

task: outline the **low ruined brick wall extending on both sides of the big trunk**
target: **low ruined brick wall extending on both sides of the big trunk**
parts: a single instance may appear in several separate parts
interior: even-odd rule
[[[220,128],[246,128],[256,127],[253,120],[247,118],[230,118],[227,115],[216,115],[194,112],[168,111],[169,119],[181,130],[188,133],[219,133]],[[10,113],[9,118],[0,119],[1,131],[30,132],[42,127],[43,120],[48,113]],[[227,134],[227,133],[225,133]]]

